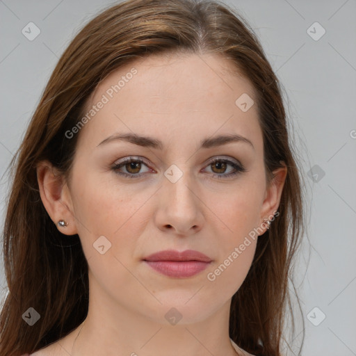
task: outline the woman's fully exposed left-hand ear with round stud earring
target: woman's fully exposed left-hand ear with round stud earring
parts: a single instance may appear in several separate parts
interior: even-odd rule
[[[49,161],[38,163],[36,170],[41,200],[51,220],[61,233],[77,234],[72,198],[63,175],[60,175]],[[67,223],[66,227],[58,225],[58,221],[62,219]]]

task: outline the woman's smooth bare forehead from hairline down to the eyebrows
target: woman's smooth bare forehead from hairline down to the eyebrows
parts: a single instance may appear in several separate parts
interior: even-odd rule
[[[225,133],[251,136],[259,130],[257,105],[242,111],[236,99],[244,95],[256,99],[250,81],[222,56],[150,55],[115,70],[99,84],[85,111],[105,104],[83,130],[89,132],[82,133],[95,140],[114,131],[177,136],[185,128],[209,136],[221,127]]]

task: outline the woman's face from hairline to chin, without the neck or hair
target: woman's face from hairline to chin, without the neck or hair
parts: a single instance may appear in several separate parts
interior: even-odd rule
[[[226,68],[219,56],[137,60],[100,84],[83,127],[67,133],[79,141],[60,231],[79,234],[90,298],[113,317],[120,308],[159,323],[209,317],[243,283],[277,210],[282,187],[266,186],[254,90]],[[145,261],[163,250],[210,262]]]

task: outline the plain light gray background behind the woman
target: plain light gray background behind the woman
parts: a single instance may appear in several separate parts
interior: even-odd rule
[[[295,273],[302,314],[297,310],[292,350],[297,353],[304,318],[302,355],[356,355],[356,1],[225,2],[251,24],[284,86],[308,191],[309,227]],[[0,1],[1,228],[3,174],[49,75],[74,33],[111,3]],[[40,29],[33,41],[22,34],[29,22]],[[318,40],[322,29],[314,22],[326,31]],[[0,282],[5,295],[3,266]]]

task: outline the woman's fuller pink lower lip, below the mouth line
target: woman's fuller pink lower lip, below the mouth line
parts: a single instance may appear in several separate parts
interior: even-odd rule
[[[186,278],[202,272],[210,262],[202,261],[145,261],[154,270],[168,277]]]

